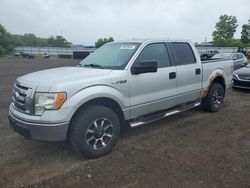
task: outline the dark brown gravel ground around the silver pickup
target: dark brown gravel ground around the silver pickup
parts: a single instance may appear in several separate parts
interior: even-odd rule
[[[218,113],[197,108],[129,129],[94,160],[67,142],[14,133],[7,115],[15,78],[76,63],[0,59],[0,187],[250,187],[250,91],[229,90]]]

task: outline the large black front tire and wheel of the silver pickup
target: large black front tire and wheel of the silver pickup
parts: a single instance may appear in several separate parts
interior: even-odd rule
[[[108,154],[120,135],[120,121],[111,109],[88,106],[80,110],[70,124],[69,141],[72,148],[87,158]]]

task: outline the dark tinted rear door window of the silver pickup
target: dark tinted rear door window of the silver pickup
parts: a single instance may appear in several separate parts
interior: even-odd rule
[[[196,59],[191,46],[184,42],[173,42],[172,48],[176,65],[186,65],[196,63]]]

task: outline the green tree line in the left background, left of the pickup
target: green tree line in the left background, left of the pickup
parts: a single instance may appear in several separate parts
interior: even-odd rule
[[[0,55],[11,53],[16,46],[70,47],[71,43],[63,36],[40,38],[32,33],[13,35],[0,24]]]

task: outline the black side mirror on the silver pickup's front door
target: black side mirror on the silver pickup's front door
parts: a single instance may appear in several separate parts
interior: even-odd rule
[[[134,65],[131,69],[132,74],[142,74],[148,72],[157,72],[156,61],[141,61],[139,64]]]

